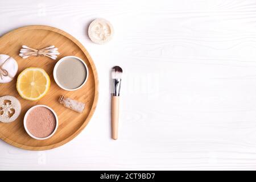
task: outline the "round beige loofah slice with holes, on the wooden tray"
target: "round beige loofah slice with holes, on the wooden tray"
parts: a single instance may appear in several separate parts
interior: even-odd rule
[[[0,121],[10,123],[19,117],[20,102],[13,96],[0,97]]]

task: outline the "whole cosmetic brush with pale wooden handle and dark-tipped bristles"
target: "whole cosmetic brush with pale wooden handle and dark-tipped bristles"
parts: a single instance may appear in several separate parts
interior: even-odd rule
[[[118,138],[118,120],[119,120],[119,97],[121,89],[122,68],[115,66],[111,70],[111,88],[112,88],[112,138]]]

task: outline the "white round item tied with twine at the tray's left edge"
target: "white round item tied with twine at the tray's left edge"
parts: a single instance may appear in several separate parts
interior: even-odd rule
[[[9,55],[0,55],[0,83],[13,80],[18,72],[18,63]]]

